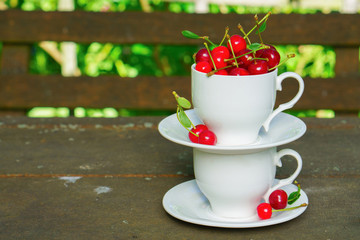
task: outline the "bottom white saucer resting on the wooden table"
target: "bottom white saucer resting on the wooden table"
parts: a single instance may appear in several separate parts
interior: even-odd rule
[[[297,191],[297,187],[293,184],[281,189],[286,191],[288,195]],[[302,203],[309,203],[303,190],[301,190],[301,196],[294,203],[294,206]],[[260,220],[257,216],[246,220],[221,218],[211,212],[209,202],[201,193],[195,180],[181,183],[170,189],[163,198],[163,207],[171,216],[185,222],[224,228],[254,228],[279,224],[298,217],[307,208],[301,207],[290,211],[276,212],[267,220]]]

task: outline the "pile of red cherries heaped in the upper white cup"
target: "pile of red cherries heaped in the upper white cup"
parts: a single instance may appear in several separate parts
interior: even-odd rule
[[[194,58],[195,69],[200,72],[233,76],[264,74],[280,63],[280,54],[274,46],[263,44],[258,50],[251,50],[237,34],[229,38],[227,46],[202,48]]]

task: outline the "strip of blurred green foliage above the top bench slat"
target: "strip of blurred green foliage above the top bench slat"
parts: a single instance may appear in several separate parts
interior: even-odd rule
[[[339,0],[341,1],[341,0]],[[8,8],[17,8],[24,11],[56,11],[59,0],[0,0]],[[316,12],[328,12],[328,7],[323,9],[309,9],[302,8],[299,4],[301,0],[289,0],[288,4],[274,7],[260,7],[260,6],[245,6],[245,5],[217,5],[210,4],[210,13],[267,13],[272,11],[273,13],[316,13]],[[163,1],[163,0],[74,0],[75,9],[84,11],[171,11],[171,12],[186,12],[194,13],[194,2],[183,1]],[[145,9],[146,8],[146,9]],[[337,11],[332,9],[331,11]]]

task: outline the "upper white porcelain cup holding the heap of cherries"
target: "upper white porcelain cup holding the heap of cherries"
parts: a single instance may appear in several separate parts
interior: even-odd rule
[[[274,110],[276,91],[286,78],[295,78],[299,90],[295,97]],[[292,108],[304,91],[303,79],[294,72],[277,76],[277,69],[260,75],[224,76],[207,74],[191,67],[191,94],[199,118],[217,136],[218,145],[251,144],[260,128],[269,130],[271,120]]]

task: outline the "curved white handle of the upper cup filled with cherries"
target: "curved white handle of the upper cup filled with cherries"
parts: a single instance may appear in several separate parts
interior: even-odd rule
[[[263,126],[264,126],[264,129],[265,131],[269,131],[269,128],[270,128],[270,122],[271,120],[280,112],[286,110],[286,109],[289,109],[289,108],[292,108],[295,103],[297,103],[297,101],[299,101],[301,95],[303,94],[304,92],[304,80],[302,79],[302,77],[300,77],[299,74],[297,73],[294,73],[294,72],[285,72],[285,73],[282,73],[280,74],[277,78],[276,78],[276,90],[277,91],[281,91],[282,90],[282,86],[281,86],[281,83],[282,81],[285,79],[285,78],[288,78],[288,77],[292,77],[292,78],[295,78],[298,82],[299,82],[299,91],[297,92],[297,94],[295,95],[295,97],[293,99],[291,99],[289,102],[287,103],[283,103],[283,104],[280,104],[280,106],[275,109],[271,114],[270,116],[266,119],[266,121],[264,122]]]

